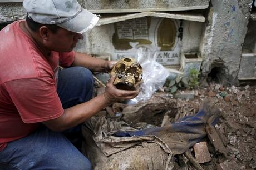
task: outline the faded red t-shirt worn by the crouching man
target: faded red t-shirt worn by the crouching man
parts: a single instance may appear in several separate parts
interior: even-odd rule
[[[0,31],[0,151],[35,131],[38,122],[63,114],[56,91],[58,66],[71,66],[75,52],[45,57],[16,21]]]

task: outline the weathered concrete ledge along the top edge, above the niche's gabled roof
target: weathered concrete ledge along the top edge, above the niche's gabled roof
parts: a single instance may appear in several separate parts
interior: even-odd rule
[[[210,0],[78,0],[80,4],[96,13],[181,11],[208,8]]]

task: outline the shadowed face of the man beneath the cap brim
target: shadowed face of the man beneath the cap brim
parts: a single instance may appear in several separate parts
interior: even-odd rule
[[[82,34],[59,28],[56,33],[50,33],[46,44],[47,48],[57,52],[71,52],[78,40],[83,39]]]

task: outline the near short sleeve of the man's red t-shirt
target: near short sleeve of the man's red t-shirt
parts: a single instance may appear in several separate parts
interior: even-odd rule
[[[4,85],[24,123],[48,121],[64,112],[51,78],[18,79]]]

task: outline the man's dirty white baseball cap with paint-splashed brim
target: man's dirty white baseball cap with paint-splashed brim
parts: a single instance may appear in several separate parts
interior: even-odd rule
[[[41,24],[56,24],[71,32],[84,33],[99,21],[76,0],[24,0],[28,17]]]

